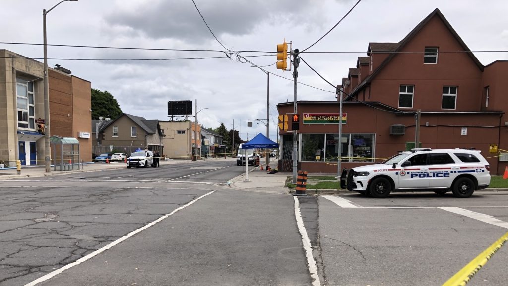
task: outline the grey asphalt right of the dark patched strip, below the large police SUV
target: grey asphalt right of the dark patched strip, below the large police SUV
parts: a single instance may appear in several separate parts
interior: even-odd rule
[[[433,193],[339,198],[342,206],[319,198],[320,273],[328,285],[441,285],[508,231],[506,192],[478,192],[468,199]],[[504,227],[447,207],[493,216]],[[506,265],[504,246],[468,285],[508,284]]]

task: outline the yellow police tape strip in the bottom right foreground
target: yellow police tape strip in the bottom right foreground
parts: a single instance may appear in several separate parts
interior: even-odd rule
[[[499,250],[504,243],[508,241],[508,232],[505,233],[501,238],[494,242],[491,246],[485,249],[479,256],[475,257],[471,262],[464,266],[459,272],[444,282],[441,286],[464,286],[471,280],[474,274],[477,274],[482,267],[485,266],[487,261],[494,256],[494,253]]]

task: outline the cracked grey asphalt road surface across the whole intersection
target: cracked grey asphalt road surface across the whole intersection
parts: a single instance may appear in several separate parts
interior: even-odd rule
[[[294,198],[221,185],[244,171],[203,161],[4,180],[0,285],[311,285]],[[298,201],[322,285],[440,285],[508,228],[508,192]],[[504,246],[468,285],[508,284],[506,265]]]

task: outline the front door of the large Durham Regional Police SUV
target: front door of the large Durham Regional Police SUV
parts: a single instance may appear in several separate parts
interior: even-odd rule
[[[427,178],[427,173],[427,153],[415,153],[401,163],[399,188],[428,187],[429,178]]]

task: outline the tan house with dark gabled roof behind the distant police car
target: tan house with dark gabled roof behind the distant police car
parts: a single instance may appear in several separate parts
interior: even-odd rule
[[[92,135],[96,145],[112,146],[117,151],[129,153],[135,149],[148,149],[163,154],[164,134],[158,120],[122,113],[113,120],[94,120]]]

